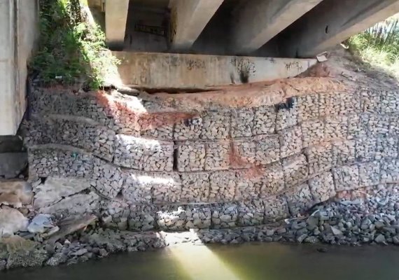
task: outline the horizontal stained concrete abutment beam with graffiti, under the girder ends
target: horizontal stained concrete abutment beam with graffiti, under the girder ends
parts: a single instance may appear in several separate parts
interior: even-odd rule
[[[151,90],[209,90],[291,78],[316,64],[316,59],[283,59],[160,52],[113,52],[121,64],[124,85]]]

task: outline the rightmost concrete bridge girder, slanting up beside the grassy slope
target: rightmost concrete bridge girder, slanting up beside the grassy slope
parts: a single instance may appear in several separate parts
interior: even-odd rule
[[[398,0],[324,0],[284,31],[282,55],[318,55],[395,13]]]

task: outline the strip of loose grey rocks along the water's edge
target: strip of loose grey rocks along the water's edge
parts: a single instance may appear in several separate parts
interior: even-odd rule
[[[14,236],[0,243],[0,270],[71,265],[113,253],[147,251],[177,244],[296,242],[309,244],[399,244],[398,186],[341,193],[311,209],[309,216],[270,225],[188,232],[127,232],[88,225],[71,235],[40,241]],[[34,241],[36,240],[36,241]],[[325,247],[320,251],[325,251]]]

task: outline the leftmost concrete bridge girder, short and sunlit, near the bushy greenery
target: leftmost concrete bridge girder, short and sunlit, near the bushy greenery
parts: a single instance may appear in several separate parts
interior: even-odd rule
[[[105,3],[106,42],[111,49],[123,49],[129,2],[130,0],[107,0]]]

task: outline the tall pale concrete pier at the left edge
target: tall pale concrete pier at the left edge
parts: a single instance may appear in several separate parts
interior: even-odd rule
[[[0,0],[0,136],[17,132],[27,106],[27,59],[38,38],[38,1]]]

